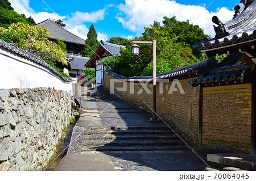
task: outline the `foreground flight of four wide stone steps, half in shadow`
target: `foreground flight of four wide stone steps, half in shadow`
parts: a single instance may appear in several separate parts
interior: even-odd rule
[[[168,127],[89,128],[81,151],[168,151],[187,146]]]

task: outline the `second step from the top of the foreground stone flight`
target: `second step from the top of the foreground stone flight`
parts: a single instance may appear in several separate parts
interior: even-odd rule
[[[174,134],[91,134],[84,135],[84,140],[177,140]]]

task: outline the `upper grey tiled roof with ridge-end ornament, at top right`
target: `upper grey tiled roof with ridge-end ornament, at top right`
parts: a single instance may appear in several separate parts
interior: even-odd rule
[[[212,20],[218,25],[214,26],[215,38],[205,39],[203,42],[193,45],[194,49],[210,50],[243,41],[256,40],[256,0],[250,1],[247,8],[229,22],[221,22],[217,16],[213,16]]]

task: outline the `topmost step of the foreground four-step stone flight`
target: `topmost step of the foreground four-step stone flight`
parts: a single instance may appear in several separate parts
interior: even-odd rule
[[[94,134],[174,134],[174,132],[161,129],[88,129],[84,131],[84,135]]]

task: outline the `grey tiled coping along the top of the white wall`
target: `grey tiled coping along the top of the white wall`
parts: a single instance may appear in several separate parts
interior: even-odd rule
[[[24,57],[27,60],[34,62],[35,64],[43,66],[44,68],[48,69],[53,74],[55,74],[58,77],[60,77],[61,79],[65,80],[65,81],[69,81],[69,79],[65,79],[64,77],[62,77],[62,75],[59,72],[57,72],[55,69],[53,69],[45,61],[43,61],[42,58],[39,58],[39,57],[35,56],[32,53],[29,53],[29,52],[27,52],[27,51],[25,51],[23,49],[20,49],[20,48],[16,47],[14,44],[7,43],[5,41],[0,40],[0,48],[5,49],[5,50],[7,50],[9,52],[13,52],[17,56]]]

